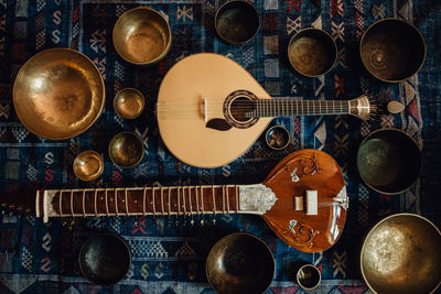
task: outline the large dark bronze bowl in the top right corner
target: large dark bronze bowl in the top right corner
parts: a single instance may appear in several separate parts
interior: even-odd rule
[[[396,83],[420,70],[426,59],[426,43],[412,24],[385,19],[363,34],[359,54],[369,74],[383,81]]]

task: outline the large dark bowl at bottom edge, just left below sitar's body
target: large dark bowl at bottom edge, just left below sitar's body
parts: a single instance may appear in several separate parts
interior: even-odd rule
[[[233,233],[220,239],[208,253],[206,276],[217,293],[262,293],[275,275],[275,259],[259,238]]]

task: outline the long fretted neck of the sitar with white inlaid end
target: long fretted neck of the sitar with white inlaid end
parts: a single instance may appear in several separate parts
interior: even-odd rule
[[[195,216],[257,214],[269,210],[276,196],[257,185],[49,189],[36,193],[36,216]]]

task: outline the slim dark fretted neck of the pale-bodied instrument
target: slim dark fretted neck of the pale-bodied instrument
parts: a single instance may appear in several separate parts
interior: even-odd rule
[[[259,99],[251,117],[349,115],[356,104],[342,100]]]

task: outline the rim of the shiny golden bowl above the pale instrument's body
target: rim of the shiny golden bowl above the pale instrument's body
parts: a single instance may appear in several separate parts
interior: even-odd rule
[[[133,61],[127,59],[126,56],[123,56],[123,55],[121,54],[121,52],[118,50],[118,46],[115,46],[116,30],[117,30],[117,28],[118,28],[118,24],[120,23],[120,20],[121,20],[123,17],[127,17],[129,13],[133,13],[133,12],[137,11],[137,10],[150,11],[150,12],[152,12],[152,13],[155,13],[155,14],[158,14],[158,15],[166,23],[166,32],[168,32],[169,42],[166,43],[165,50],[164,50],[164,51],[162,52],[162,54],[159,55],[157,58],[154,58],[153,61],[147,62],[147,63],[133,62]],[[128,62],[128,63],[130,63],[130,64],[141,65],[141,66],[148,66],[148,65],[153,65],[153,64],[159,63],[159,62],[162,61],[162,59],[165,57],[165,55],[169,53],[169,51],[170,51],[170,48],[171,48],[171,46],[172,46],[172,31],[171,31],[169,21],[168,21],[168,20],[164,18],[164,15],[162,15],[160,12],[158,12],[157,10],[154,10],[154,9],[152,9],[152,8],[149,8],[149,7],[136,7],[136,8],[129,9],[128,11],[126,11],[125,13],[122,13],[122,14],[118,18],[117,22],[116,22],[115,25],[114,25],[114,30],[111,31],[111,42],[112,42],[114,48],[115,48],[115,51],[117,52],[117,54],[118,54],[119,57],[121,57],[122,59],[125,59],[126,62]]]

